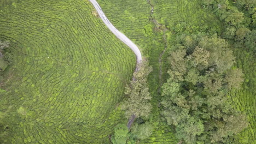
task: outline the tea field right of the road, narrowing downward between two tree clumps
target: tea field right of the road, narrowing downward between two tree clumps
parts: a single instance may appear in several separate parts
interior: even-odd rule
[[[156,127],[149,139],[139,143],[178,143],[174,128],[168,126],[160,115],[160,87],[167,77],[168,51],[175,38],[171,27],[183,22],[188,23],[191,29],[193,26],[197,29],[203,26],[219,30],[218,21],[214,20],[213,15],[202,10],[196,1],[99,0],[98,3],[113,25],[135,41],[144,56],[148,56],[153,67],[153,72],[149,75],[149,91],[153,97],[153,112],[149,121],[156,122]],[[197,11],[197,14],[194,14],[194,11]],[[194,14],[194,21],[188,14]],[[211,17],[208,17],[209,15]],[[162,27],[163,25],[167,27]]]

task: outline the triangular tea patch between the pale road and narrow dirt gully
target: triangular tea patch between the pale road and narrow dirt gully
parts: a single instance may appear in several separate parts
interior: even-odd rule
[[[150,46],[149,38],[145,37],[146,27],[151,26],[149,21],[150,6],[147,1],[97,1],[100,4],[104,14],[108,17],[109,21],[113,23],[119,31],[123,32],[128,38],[134,41],[142,53]]]

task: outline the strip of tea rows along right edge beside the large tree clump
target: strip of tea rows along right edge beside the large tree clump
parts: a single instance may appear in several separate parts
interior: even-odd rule
[[[236,109],[245,112],[249,119],[248,128],[235,137],[235,143],[256,143],[256,59],[253,52],[246,50],[237,49],[235,55],[237,67],[242,68],[245,73],[245,82],[241,90],[231,91],[230,96]]]

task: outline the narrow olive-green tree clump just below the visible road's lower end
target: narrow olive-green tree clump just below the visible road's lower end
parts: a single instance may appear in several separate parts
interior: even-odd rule
[[[138,71],[133,73],[133,80],[129,86],[125,88],[125,95],[128,97],[124,101],[121,109],[125,110],[125,115],[130,118],[131,115],[136,117],[148,117],[152,106],[150,99],[152,98],[148,92],[147,76],[152,71],[148,61],[143,59],[138,64]]]

